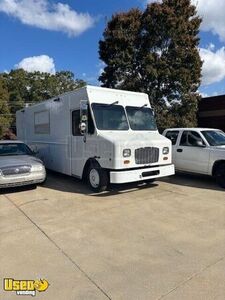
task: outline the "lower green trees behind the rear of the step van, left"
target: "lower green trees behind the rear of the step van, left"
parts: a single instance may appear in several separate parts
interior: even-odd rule
[[[23,69],[0,74],[0,126],[15,127],[15,113],[26,104],[34,104],[80,88],[86,83],[74,79],[69,71],[28,73]],[[11,114],[11,115],[9,115]],[[1,137],[1,132],[0,132]]]

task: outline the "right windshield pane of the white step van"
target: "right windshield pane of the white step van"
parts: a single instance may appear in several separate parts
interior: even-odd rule
[[[157,130],[153,112],[148,107],[126,107],[130,128],[133,130]]]

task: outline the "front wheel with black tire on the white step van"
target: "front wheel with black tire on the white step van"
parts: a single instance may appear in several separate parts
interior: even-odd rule
[[[108,172],[101,168],[97,162],[92,162],[87,170],[87,182],[95,193],[103,192],[109,184]]]

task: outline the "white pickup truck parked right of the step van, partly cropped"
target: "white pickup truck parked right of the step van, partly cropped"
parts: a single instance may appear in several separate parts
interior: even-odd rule
[[[211,175],[225,188],[225,133],[209,128],[170,128],[172,160],[182,172]]]

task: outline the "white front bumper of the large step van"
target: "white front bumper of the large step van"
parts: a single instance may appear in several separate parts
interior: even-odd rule
[[[110,183],[128,183],[128,182],[144,181],[148,179],[165,177],[174,174],[175,174],[175,168],[173,164],[158,166],[153,168],[111,171]]]

